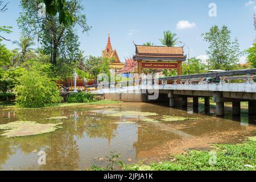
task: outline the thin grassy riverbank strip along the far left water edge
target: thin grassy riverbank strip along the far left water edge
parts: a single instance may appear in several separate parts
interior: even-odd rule
[[[16,110],[23,110],[23,109],[49,109],[49,108],[58,108],[58,107],[75,107],[75,106],[90,106],[90,105],[109,105],[109,104],[119,104],[122,103],[122,101],[109,101],[109,100],[101,100],[96,102],[86,102],[86,103],[61,103],[57,104],[55,106],[49,106],[49,107],[42,107],[42,108],[20,108],[15,105],[11,104],[1,104],[0,103],[0,109],[16,109]]]

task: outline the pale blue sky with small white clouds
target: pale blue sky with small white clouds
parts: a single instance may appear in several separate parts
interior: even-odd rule
[[[9,10],[0,14],[0,25],[13,26],[13,33],[8,37],[18,40],[20,30],[16,19],[21,11],[19,1],[9,2]],[[195,57],[205,57],[208,44],[201,34],[209,31],[214,24],[226,24],[232,31],[233,39],[238,38],[241,50],[250,47],[254,40],[256,0],[82,0],[82,3],[88,24],[92,26],[85,34],[77,28],[85,55],[101,56],[108,33],[122,61],[135,53],[133,41],[136,44],[154,42],[160,46],[159,39],[164,30],[175,32],[179,40],[191,48],[191,56]],[[210,3],[217,5],[217,17],[209,16]],[[11,49],[16,47],[9,42],[4,43]]]

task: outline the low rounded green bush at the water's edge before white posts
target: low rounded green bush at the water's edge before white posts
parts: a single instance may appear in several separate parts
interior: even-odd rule
[[[68,96],[68,103],[86,103],[86,102],[94,102],[96,98],[89,92],[79,92]]]

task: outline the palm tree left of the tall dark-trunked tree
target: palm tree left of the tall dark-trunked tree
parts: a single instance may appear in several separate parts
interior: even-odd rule
[[[19,48],[16,48],[16,50],[19,50],[22,53],[23,58],[26,56],[28,52],[34,51],[34,48],[31,47],[34,46],[35,43],[31,38],[24,37],[21,38],[19,42],[15,41],[14,43],[19,46]]]

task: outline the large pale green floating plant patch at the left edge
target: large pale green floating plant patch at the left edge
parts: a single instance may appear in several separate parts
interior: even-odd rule
[[[2,136],[6,136],[6,138],[25,137],[44,133],[51,133],[57,129],[60,129],[61,127],[57,125],[61,124],[62,123],[40,124],[34,121],[15,121],[0,125],[0,130],[6,130],[5,133],[2,134]]]

